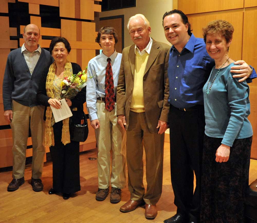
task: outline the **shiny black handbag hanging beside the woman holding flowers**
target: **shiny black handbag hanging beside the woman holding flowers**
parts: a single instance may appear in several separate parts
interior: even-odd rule
[[[71,118],[70,118],[71,119]],[[88,124],[83,112],[82,124],[70,124],[70,139],[76,142],[85,142],[88,136]]]

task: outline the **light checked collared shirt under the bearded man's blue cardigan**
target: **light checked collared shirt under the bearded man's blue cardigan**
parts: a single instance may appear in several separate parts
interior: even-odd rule
[[[21,53],[23,53],[24,59],[29,67],[30,74],[32,75],[34,68],[39,60],[40,54],[41,54],[41,47],[38,44],[38,49],[30,53],[26,47],[25,44],[23,43],[21,47]]]

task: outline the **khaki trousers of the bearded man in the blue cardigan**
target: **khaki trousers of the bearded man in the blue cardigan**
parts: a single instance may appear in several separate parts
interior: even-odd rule
[[[13,119],[11,121],[13,135],[13,178],[24,177],[27,139],[29,125],[32,138],[32,178],[39,179],[42,176],[45,147],[44,139],[44,107],[42,105],[28,107],[12,101]]]

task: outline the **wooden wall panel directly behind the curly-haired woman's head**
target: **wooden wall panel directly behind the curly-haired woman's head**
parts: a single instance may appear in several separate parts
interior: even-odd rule
[[[212,20],[222,19],[230,22],[234,26],[232,44],[229,49],[229,55],[233,60],[242,58],[242,30],[243,30],[243,12],[235,10],[234,12],[225,11],[222,13],[205,13],[188,15],[188,20],[193,29],[192,33],[196,37],[203,38],[202,28]]]

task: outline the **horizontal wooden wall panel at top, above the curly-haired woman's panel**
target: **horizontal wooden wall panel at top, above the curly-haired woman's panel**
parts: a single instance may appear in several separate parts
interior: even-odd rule
[[[244,7],[244,0],[178,0],[178,9],[185,14],[224,11]]]

